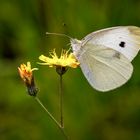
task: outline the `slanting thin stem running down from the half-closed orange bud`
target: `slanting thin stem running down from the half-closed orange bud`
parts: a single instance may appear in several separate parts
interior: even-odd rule
[[[58,126],[58,128],[61,130],[61,132],[65,136],[66,140],[68,140],[68,136],[66,135],[64,129],[61,127],[59,122],[53,117],[53,115],[48,111],[48,109],[42,104],[42,102],[39,100],[38,97],[35,97],[35,100],[45,110],[45,112],[49,115],[49,117],[55,122],[55,124]]]

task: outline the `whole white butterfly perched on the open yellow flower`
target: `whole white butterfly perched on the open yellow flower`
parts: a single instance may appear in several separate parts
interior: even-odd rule
[[[73,53],[96,90],[105,92],[126,83],[133,72],[131,61],[140,50],[140,28],[119,26],[71,39]]]

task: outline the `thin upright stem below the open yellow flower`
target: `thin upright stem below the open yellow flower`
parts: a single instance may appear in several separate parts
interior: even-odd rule
[[[61,125],[62,128],[64,128],[62,75],[60,75],[60,125]]]

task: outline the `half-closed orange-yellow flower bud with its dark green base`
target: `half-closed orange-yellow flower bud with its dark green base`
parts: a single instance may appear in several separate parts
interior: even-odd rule
[[[18,67],[19,75],[21,79],[24,81],[24,83],[26,84],[28,93],[31,96],[35,96],[37,93],[37,88],[35,87],[34,77],[32,73],[34,70],[38,70],[38,69],[31,68],[30,62],[27,62],[27,65],[21,64],[20,67]]]

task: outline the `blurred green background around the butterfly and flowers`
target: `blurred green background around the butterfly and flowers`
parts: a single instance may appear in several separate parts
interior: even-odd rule
[[[139,0],[0,0],[0,140],[63,140],[57,126],[28,96],[17,67],[31,61],[38,96],[59,119],[59,77],[39,66],[38,56],[68,48],[65,33],[78,39],[118,25],[140,26]],[[64,75],[64,121],[71,140],[140,140],[140,56],[127,84],[95,91],[80,68]]]

